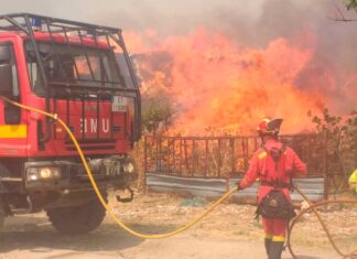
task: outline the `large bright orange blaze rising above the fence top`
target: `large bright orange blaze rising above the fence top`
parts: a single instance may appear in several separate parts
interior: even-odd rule
[[[283,133],[295,133],[312,129],[307,112],[326,105],[318,87],[296,83],[315,51],[309,33],[263,48],[204,29],[160,40],[154,31],[130,32],[126,40],[144,56],[138,64],[143,94],[164,90],[180,107],[175,133],[251,133],[267,115],[284,118]]]

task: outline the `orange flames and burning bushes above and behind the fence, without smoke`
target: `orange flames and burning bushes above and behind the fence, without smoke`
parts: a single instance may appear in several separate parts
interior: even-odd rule
[[[203,28],[126,37],[141,80],[143,125],[153,134],[145,144],[147,170],[196,176],[245,172],[257,139],[228,136],[256,136],[257,121],[270,115],[284,118],[283,134],[320,132],[284,140],[309,161],[311,175],[326,174],[328,186],[345,187],[356,164],[357,117],[350,111],[357,74],[327,62],[314,33],[260,47]],[[155,138],[162,132],[171,138]]]

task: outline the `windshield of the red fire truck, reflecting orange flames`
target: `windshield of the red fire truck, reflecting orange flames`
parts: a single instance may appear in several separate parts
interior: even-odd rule
[[[95,48],[83,45],[37,42],[37,48],[48,84],[88,87],[132,87],[123,78],[127,64],[116,63],[111,50]],[[29,77],[36,93],[44,90],[39,61],[31,41],[25,42]]]

